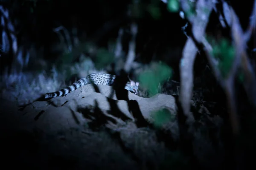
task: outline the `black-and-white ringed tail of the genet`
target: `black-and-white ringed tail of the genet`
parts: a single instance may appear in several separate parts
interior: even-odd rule
[[[67,88],[63,88],[59,91],[45,94],[44,99],[54,98],[58,96],[65,96],[66,94],[69,94],[71,91],[74,91],[80,88],[81,86],[88,85],[88,84],[90,84],[90,79],[88,77],[84,77],[82,79],[79,79],[77,82],[74,82],[72,85],[70,85]]]

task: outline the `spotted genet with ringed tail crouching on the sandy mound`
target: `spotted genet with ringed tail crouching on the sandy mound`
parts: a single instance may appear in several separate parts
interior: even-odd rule
[[[113,85],[115,78],[116,76],[111,74],[93,73],[88,75],[87,77],[79,79],[77,82],[74,82],[67,88],[63,88],[59,91],[45,94],[44,99],[54,98],[57,96],[65,96],[71,91],[74,91],[80,88],[81,86],[88,85],[91,83],[95,85]],[[125,89],[137,95],[139,91],[139,82],[134,82],[131,80],[131,82],[127,82],[127,84],[125,85]]]

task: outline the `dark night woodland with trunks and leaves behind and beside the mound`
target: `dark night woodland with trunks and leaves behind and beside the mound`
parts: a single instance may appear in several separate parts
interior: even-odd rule
[[[1,100],[23,105],[88,74],[125,71],[140,81],[140,96],[177,100],[178,142],[154,131],[172,153],[159,169],[253,166],[256,1],[216,2],[1,0]],[[161,124],[166,114],[158,114]],[[22,133],[28,148],[36,137]],[[223,158],[212,154],[208,161],[218,161],[207,167],[200,148]]]

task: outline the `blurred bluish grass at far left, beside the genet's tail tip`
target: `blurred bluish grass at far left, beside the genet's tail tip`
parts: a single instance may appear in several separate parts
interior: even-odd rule
[[[27,104],[38,98],[41,94],[56,91],[62,85],[63,73],[59,73],[55,67],[49,77],[46,72],[37,73],[4,73],[0,76],[0,96],[5,96],[10,101],[16,101],[18,105]]]

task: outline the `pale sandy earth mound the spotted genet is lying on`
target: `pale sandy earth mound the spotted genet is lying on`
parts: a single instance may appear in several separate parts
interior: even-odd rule
[[[64,97],[33,102],[22,110],[15,102],[1,99],[3,164],[36,169],[128,170],[167,169],[179,162],[169,161],[177,154],[166,150],[152,128],[154,111],[165,108],[175,115],[172,96],[146,99],[129,93],[125,101],[111,96],[110,87],[99,86],[101,93],[94,90],[87,85]],[[173,141],[177,140],[177,122],[168,127]]]

